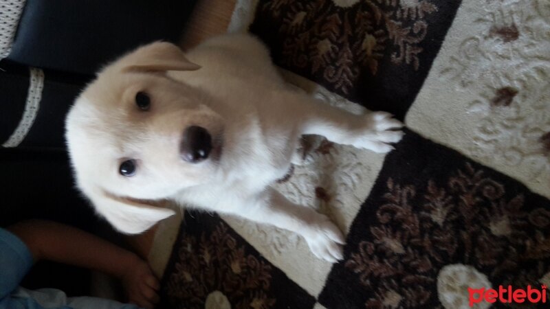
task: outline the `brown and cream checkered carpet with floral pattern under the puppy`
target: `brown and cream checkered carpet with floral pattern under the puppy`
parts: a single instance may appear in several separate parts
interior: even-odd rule
[[[185,214],[159,308],[547,308],[468,288],[550,283],[550,3],[241,0],[230,31],[329,104],[395,113],[388,155],[303,141],[276,188],[346,233],[344,260],[239,218]]]

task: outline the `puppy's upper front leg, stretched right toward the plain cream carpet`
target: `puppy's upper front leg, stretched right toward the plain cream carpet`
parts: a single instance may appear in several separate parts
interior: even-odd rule
[[[403,126],[390,113],[368,112],[355,115],[342,108],[298,94],[299,103],[303,106],[303,134],[315,134],[327,137],[338,144],[351,145],[374,152],[389,152],[390,144],[397,143],[403,132],[397,130]]]

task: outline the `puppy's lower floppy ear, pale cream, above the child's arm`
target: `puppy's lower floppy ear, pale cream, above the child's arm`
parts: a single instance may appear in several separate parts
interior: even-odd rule
[[[96,211],[122,233],[137,234],[151,228],[164,218],[173,216],[171,209],[151,205],[146,201],[121,198],[100,189],[87,190]]]

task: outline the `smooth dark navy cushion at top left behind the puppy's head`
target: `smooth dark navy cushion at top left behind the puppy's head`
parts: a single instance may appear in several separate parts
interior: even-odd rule
[[[195,0],[27,0],[8,59],[95,73],[150,43],[177,42]]]

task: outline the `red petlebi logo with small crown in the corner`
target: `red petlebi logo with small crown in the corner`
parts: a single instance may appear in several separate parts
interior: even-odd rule
[[[540,289],[531,286],[527,286],[527,289],[498,286],[498,290],[494,288],[468,288],[468,294],[470,295],[470,307],[482,301],[487,301],[490,304],[494,304],[496,301],[503,304],[522,304],[526,302],[546,304],[547,286],[542,284]]]

